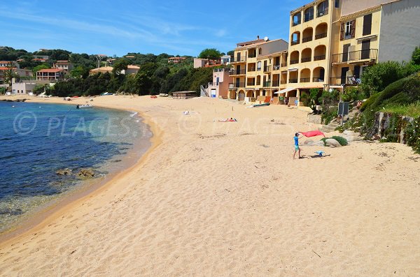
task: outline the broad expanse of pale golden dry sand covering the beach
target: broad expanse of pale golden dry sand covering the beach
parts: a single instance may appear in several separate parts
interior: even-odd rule
[[[307,158],[293,160],[295,131],[316,126],[285,106],[132,96],[94,105],[141,112],[153,151],[4,241],[1,275],[420,276],[420,158],[409,147],[302,146]],[[238,122],[214,121],[227,117]],[[309,157],[320,149],[330,156]]]

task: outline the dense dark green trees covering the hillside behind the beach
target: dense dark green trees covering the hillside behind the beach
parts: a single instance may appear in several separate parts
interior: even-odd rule
[[[202,55],[220,57],[221,52],[216,49],[203,50]],[[33,61],[34,56],[45,55],[50,59],[46,62]],[[114,70],[112,73],[90,75],[89,70],[97,68],[97,55],[77,54],[66,50],[45,50],[30,53],[26,50],[15,50],[11,47],[0,48],[0,60],[17,61],[21,68],[37,70],[51,68],[52,64],[60,60],[73,63],[73,70],[65,80],[47,88],[48,93],[55,96],[94,96],[105,91],[120,93],[136,93],[139,95],[171,93],[173,91],[200,92],[200,85],[212,80],[211,68],[193,68],[193,57],[186,57],[182,63],[168,63],[169,54],[140,54],[128,53],[124,58],[113,57]],[[102,61],[102,66],[106,64]],[[140,66],[136,75],[120,74],[127,66]],[[37,90],[43,91],[43,88]]]

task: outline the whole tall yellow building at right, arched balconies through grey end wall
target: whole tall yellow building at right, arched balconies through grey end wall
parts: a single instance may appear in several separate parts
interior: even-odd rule
[[[316,0],[290,12],[288,97],[360,84],[367,66],[409,61],[420,41],[416,0]]]

